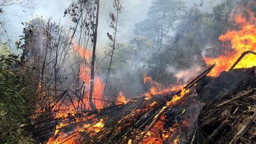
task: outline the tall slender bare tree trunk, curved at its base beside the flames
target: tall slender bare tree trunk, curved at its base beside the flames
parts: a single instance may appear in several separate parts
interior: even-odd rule
[[[95,23],[95,30],[93,34],[93,50],[92,50],[92,62],[91,62],[91,82],[90,82],[90,95],[89,95],[89,104],[92,110],[97,110],[93,101],[92,101],[92,94],[94,88],[94,63],[95,63],[95,51],[96,51],[96,44],[97,44],[97,33],[98,33],[98,24],[99,24],[99,8],[100,8],[100,0],[97,2],[97,13],[96,13],[96,23]]]

